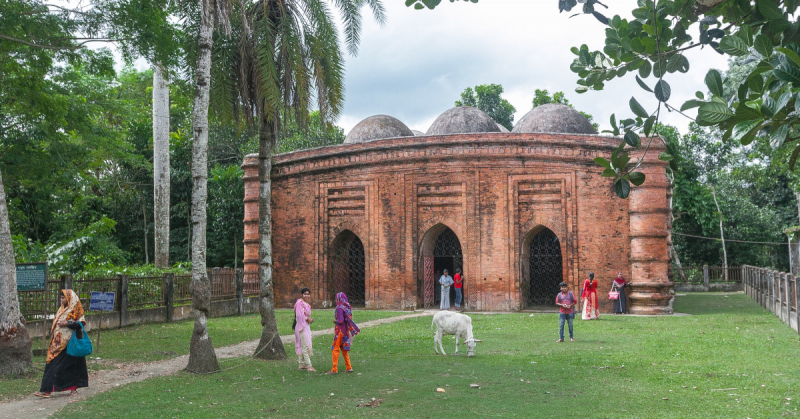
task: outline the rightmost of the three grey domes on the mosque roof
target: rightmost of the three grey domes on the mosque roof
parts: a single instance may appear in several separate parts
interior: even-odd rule
[[[557,103],[540,105],[525,114],[511,132],[557,134],[597,134],[586,117],[575,109]]]

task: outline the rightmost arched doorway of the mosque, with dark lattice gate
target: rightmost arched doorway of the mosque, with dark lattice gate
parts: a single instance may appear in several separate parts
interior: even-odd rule
[[[536,228],[528,233],[523,252],[523,304],[552,308],[564,276],[558,236],[547,227]]]

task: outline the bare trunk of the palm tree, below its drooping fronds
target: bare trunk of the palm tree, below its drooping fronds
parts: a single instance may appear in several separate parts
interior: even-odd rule
[[[255,357],[286,359],[286,350],[278,335],[275,321],[275,295],[272,291],[272,149],[275,146],[276,126],[267,112],[261,118],[258,135],[258,278],[261,280],[261,341]]]

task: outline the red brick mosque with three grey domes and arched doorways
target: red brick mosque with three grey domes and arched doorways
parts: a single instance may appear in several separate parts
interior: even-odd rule
[[[308,287],[316,307],[340,291],[365,308],[438,307],[439,276],[461,268],[468,311],[553,309],[561,281],[577,295],[592,271],[610,312],[622,271],[629,312],[671,314],[663,145],[654,141],[638,169],[645,184],[620,199],[593,162],[618,144],[549,104],[511,132],[472,107],[444,112],[425,134],[376,115],[344,144],[276,155],[276,305],[291,307]],[[257,272],[258,156],[242,167],[245,271]]]

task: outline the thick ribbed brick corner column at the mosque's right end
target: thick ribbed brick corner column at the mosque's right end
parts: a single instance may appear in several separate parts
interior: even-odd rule
[[[643,138],[644,142],[645,139]],[[656,140],[658,141],[658,140]],[[631,190],[629,206],[631,240],[631,314],[672,314],[674,283],[669,278],[668,163],[658,160],[664,146],[653,143],[637,169],[646,182]]]

